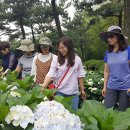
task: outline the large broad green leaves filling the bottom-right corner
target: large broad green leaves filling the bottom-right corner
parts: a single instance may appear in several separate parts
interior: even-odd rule
[[[87,100],[79,109],[78,115],[85,123],[84,130],[128,130],[130,126],[128,111],[129,109],[126,112],[105,109],[102,103]]]

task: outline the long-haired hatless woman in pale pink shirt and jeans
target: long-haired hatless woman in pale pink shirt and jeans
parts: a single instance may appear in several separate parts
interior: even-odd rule
[[[57,43],[58,56],[52,61],[51,68],[46,75],[42,89],[47,87],[53,80],[55,86],[59,84],[64,74],[68,70],[66,76],[58,86],[56,95],[64,97],[73,96],[73,109],[78,108],[79,103],[79,90],[82,98],[86,98],[84,91],[83,78],[85,71],[83,69],[82,61],[78,55],[75,54],[73,42],[71,39],[63,37]],[[78,88],[79,86],[79,88]]]

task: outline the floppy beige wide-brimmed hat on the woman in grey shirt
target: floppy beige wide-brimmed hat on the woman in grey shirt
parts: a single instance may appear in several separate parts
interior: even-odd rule
[[[34,51],[34,44],[30,39],[21,40],[21,45],[17,48],[18,50],[22,51]]]

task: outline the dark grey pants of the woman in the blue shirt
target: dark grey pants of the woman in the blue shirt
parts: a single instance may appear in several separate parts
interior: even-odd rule
[[[119,102],[118,110],[124,111],[130,106],[130,100],[126,90],[114,90],[107,88],[104,105],[106,108],[111,108]]]

